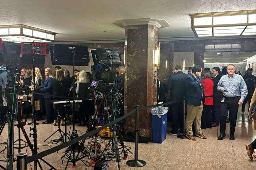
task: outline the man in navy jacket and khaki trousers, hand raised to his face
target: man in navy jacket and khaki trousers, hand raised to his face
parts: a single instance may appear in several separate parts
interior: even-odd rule
[[[186,136],[190,140],[196,140],[193,136],[192,124],[195,124],[195,135],[206,139],[201,130],[201,116],[203,111],[204,89],[201,86],[202,67],[195,65],[192,69],[192,73],[187,76],[186,81],[186,104],[188,107],[188,114],[186,118]]]

